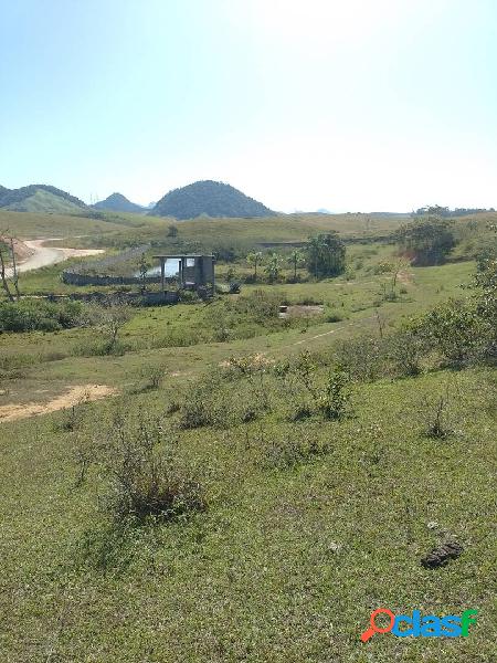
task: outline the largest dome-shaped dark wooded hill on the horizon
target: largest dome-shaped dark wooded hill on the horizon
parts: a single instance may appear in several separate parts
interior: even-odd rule
[[[194,219],[201,214],[231,218],[275,217],[276,212],[230,185],[204,180],[169,191],[149,214]]]

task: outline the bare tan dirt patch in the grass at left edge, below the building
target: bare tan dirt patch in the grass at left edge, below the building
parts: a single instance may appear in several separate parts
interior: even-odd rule
[[[71,387],[65,393],[57,396],[47,403],[22,403],[0,406],[0,423],[27,419],[39,414],[56,412],[80,403],[99,400],[117,393],[117,389],[107,385],[78,385]]]

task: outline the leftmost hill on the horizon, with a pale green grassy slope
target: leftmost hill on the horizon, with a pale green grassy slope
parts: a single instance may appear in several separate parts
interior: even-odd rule
[[[20,189],[0,188],[0,208],[14,212],[71,214],[86,209],[85,203],[66,191],[47,185],[30,185]]]

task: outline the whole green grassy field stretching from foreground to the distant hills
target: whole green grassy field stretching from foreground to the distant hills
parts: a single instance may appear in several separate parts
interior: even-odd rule
[[[112,246],[129,233],[157,238],[171,223],[124,217],[124,227],[21,213],[13,221],[25,238],[107,238]],[[378,238],[399,223],[372,218],[366,229],[361,217],[178,227],[184,238],[212,241],[215,223],[220,242],[255,248],[327,228]],[[1,660],[497,660],[495,369],[450,369],[430,355],[416,377],[353,379],[337,420],[322,414],[321,403],[342,341],[380,343],[403,320],[473,295],[475,262],[461,260],[466,255],[458,248],[456,262],[402,270],[389,301],[392,275],[378,265],[394,260],[394,248],[353,244],[347,275],[338,278],[243,285],[240,295],[210,304],[136,308],[116,355],[93,354],[102,327],[0,334],[0,414],[50,403],[75,386],[116,390],[72,409],[0,421]],[[221,280],[228,267],[220,265]],[[234,267],[251,271],[244,260]],[[68,292],[57,283],[60,269],[27,274],[24,292]],[[261,290],[273,304],[315,303],[322,313],[289,322],[246,313]],[[246,371],[248,357],[262,368]],[[442,401],[446,434],[430,436]],[[144,431],[157,453],[195,477],[202,508],[166,522],[116,522],[112,469],[123,446],[113,449]],[[421,558],[447,537],[463,555],[423,568]],[[377,634],[364,645],[360,634],[379,607],[437,615],[476,609],[478,623],[468,638]]]

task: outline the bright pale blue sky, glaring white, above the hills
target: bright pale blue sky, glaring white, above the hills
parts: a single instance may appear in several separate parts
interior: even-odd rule
[[[497,207],[495,0],[0,0],[0,185]]]

